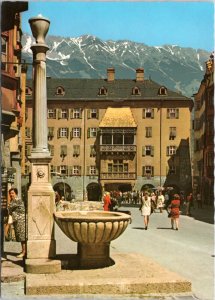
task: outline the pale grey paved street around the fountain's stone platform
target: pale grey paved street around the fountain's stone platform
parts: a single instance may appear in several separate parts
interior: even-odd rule
[[[128,208],[122,208],[128,209]],[[144,230],[143,217],[136,207],[130,207],[132,223],[122,236],[111,243],[111,253],[140,253],[152,258],[167,269],[178,273],[192,282],[193,295],[147,297],[147,299],[214,299],[214,226],[211,224],[212,214],[208,218],[206,209],[203,217],[201,211],[195,210],[196,219],[182,215],[179,231],[170,229],[167,213],[154,213],[150,217],[149,229]],[[200,221],[203,219],[203,221]],[[205,222],[207,221],[207,222]],[[56,226],[57,253],[76,253],[76,243],[70,241]],[[19,244],[14,244],[19,251]],[[2,284],[2,295],[22,296],[23,282]],[[71,295],[54,297],[55,299],[126,299],[126,297],[110,296],[80,296]],[[25,298],[38,299],[36,296]],[[42,299],[43,297],[40,296]],[[47,298],[47,296],[46,296]],[[53,296],[52,296],[53,298]],[[143,298],[143,297],[142,297]],[[4,297],[4,299],[6,299]],[[127,299],[139,299],[127,297]]]

